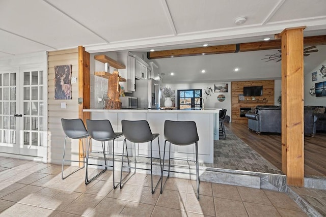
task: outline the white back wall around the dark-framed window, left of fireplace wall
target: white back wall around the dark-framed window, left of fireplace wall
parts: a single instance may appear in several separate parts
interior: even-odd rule
[[[211,87],[214,90],[214,83],[190,83],[190,84],[163,84],[163,87],[171,87],[172,90],[178,89],[202,89],[202,97],[204,98],[205,108],[224,108],[227,109],[227,115],[231,117],[231,82],[225,82],[229,85],[228,92],[212,92],[211,96],[206,96],[206,87]],[[224,102],[218,101],[218,96],[223,94],[225,96]],[[177,99],[176,99],[177,101]],[[177,102],[176,102],[177,103]]]

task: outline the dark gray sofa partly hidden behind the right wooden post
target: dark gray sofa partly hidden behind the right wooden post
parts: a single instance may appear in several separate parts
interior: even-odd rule
[[[249,130],[260,133],[281,133],[282,111],[280,106],[257,106],[255,111],[247,113]],[[316,134],[316,117],[313,109],[304,108],[304,132],[312,137]]]

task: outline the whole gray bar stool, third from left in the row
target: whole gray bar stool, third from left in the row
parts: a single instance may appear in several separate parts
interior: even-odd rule
[[[152,194],[154,194],[155,189],[161,180],[161,177],[157,181],[155,188],[153,188],[153,161],[152,161],[152,141],[157,138],[158,141],[158,153],[159,153],[159,164],[160,164],[160,169],[162,167],[161,163],[161,154],[160,154],[160,149],[159,149],[159,139],[158,136],[159,134],[152,134],[152,131],[149,127],[149,124],[146,120],[121,120],[121,125],[122,125],[122,133],[123,136],[125,137],[123,141],[123,149],[122,149],[122,164],[121,164],[121,174],[120,174],[120,188],[123,187],[122,185],[122,169],[123,169],[123,156],[124,156],[124,147],[126,147],[126,154],[127,154],[127,160],[128,160],[128,168],[129,168],[129,173],[130,174],[130,168],[134,169],[134,173],[136,172],[136,169],[143,169],[143,170],[150,170],[151,171],[151,186],[152,186]],[[129,157],[128,157],[128,148],[127,148],[127,141],[130,141],[132,143],[144,143],[144,142],[151,142],[151,168],[150,169],[144,169],[144,168],[137,168],[136,166],[136,147],[134,144],[134,167],[130,167],[129,163]],[[133,174],[134,174],[133,173]],[[127,175],[127,176],[128,176]],[[126,176],[126,177],[127,177]],[[126,178],[124,177],[124,179]]]

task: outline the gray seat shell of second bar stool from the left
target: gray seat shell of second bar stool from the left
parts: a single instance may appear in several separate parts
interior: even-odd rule
[[[110,120],[86,120],[88,133],[97,141],[110,141],[116,138]]]

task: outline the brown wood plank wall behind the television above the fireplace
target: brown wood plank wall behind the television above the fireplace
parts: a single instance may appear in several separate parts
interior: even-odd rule
[[[251,97],[244,97],[244,101],[239,101],[239,94],[243,94],[244,86],[263,86],[263,96],[256,97],[255,101]],[[248,122],[247,117],[240,117],[240,108],[247,107],[254,109],[257,105],[274,105],[274,80],[261,81],[233,81],[231,82],[232,96],[232,122]],[[247,98],[250,100],[247,101]],[[266,98],[266,101],[261,101]]]

